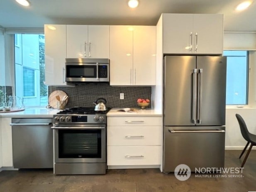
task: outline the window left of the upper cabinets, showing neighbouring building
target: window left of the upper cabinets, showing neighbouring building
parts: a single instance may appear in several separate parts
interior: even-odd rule
[[[23,99],[25,106],[46,106],[44,35],[15,34],[14,40],[16,96]]]

